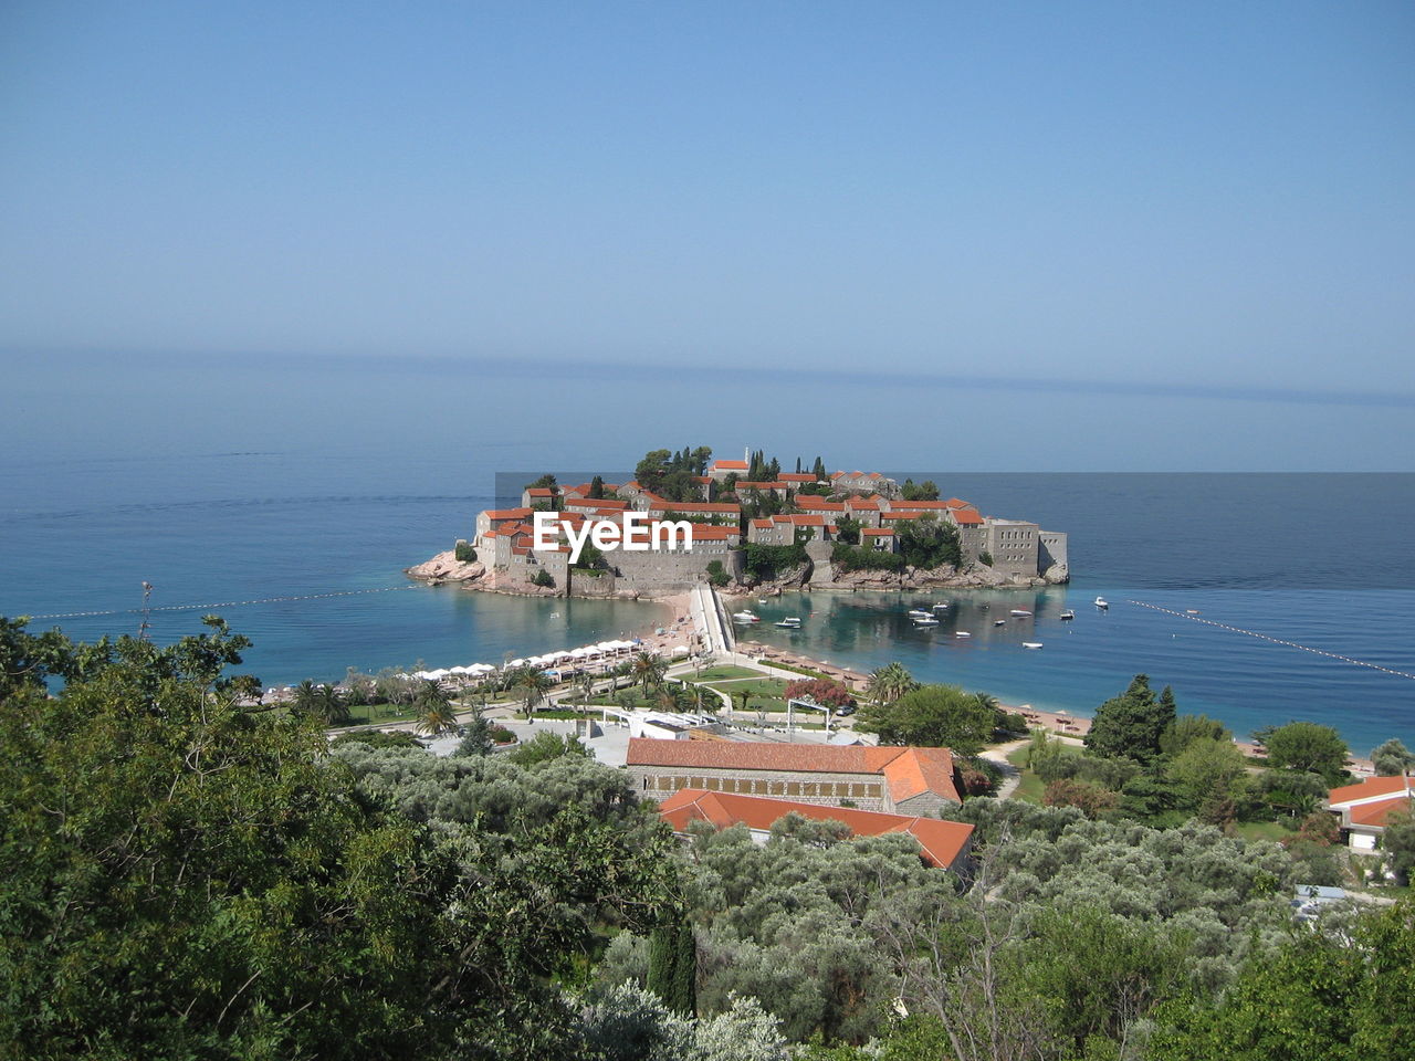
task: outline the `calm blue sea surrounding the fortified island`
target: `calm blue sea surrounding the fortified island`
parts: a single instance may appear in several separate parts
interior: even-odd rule
[[[28,444],[0,456],[0,614],[99,611],[108,614],[33,625],[76,638],[136,632],[147,580],[157,608],[222,604],[209,610],[253,638],[248,669],[266,683],[338,678],[348,666],[499,662],[661,620],[657,605],[430,589],[400,572],[470,536],[497,472],[613,471],[654,444],[734,451],[740,436],[751,439],[743,417],[716,424],[732,439],[713,437],[713,423],[681,429],[681,439],[659,437],[654,423],[644,429],[652,437],[637,424],[625,436],[599,423],[601,406],[584,406],[573,388],[546,400],[522,381],[456,379],[440,392],[426,378],[413,382],[318,375],[286,378],[282,389],[233,373],[209,383],[201,407],[163,402],[149,414],[146,389],[109,381],[76,386],[69,406],[25,406]],[[161,398],[158,383],[144,388]],[[631,406],[655,409],[659,388],[645,386]],[[55,423],[62,430],[35,441],[37,424]],[[889,430],[872,427],[859,450],[877,451]],[[1358,753],[1390,736],[1415,746],[1415,680],[1131,603],[1194,608],[1415,673],[1415,475],[962,474],[937,470],[947,447],[911,437],[897,447],[900,472],[932,477],[985,512],[1070,532],[1073,584],[947,594],[955,607],[932,631],[903,613],[937,596],[785,598],[760,610],[799,614],[802,631],[763,624],[763,639],[863,669],[900,659],[924,679],[1077,713],[1143,671],[1156,686],[1172,683],[1183,710],[1238,733],[1312,719],[1340,729]],[[839,431],[802,456],[818,448],[832,467],[855,467]],[[775,451],[794,457],[780,443]],[[368,590],[376,591],[354,593]],[[1097,594],[1111,601],[1108,613],[1091,605]],[[275,597],[310,598],[226,604]],[[1012,607],[1036,618],[993,627]],[[1057,618],[1065,607],[1074,622]],[[205,610],[158,610],[154,635],[192,632]],[[1044,648],[1023,649],[1024,639]]]

